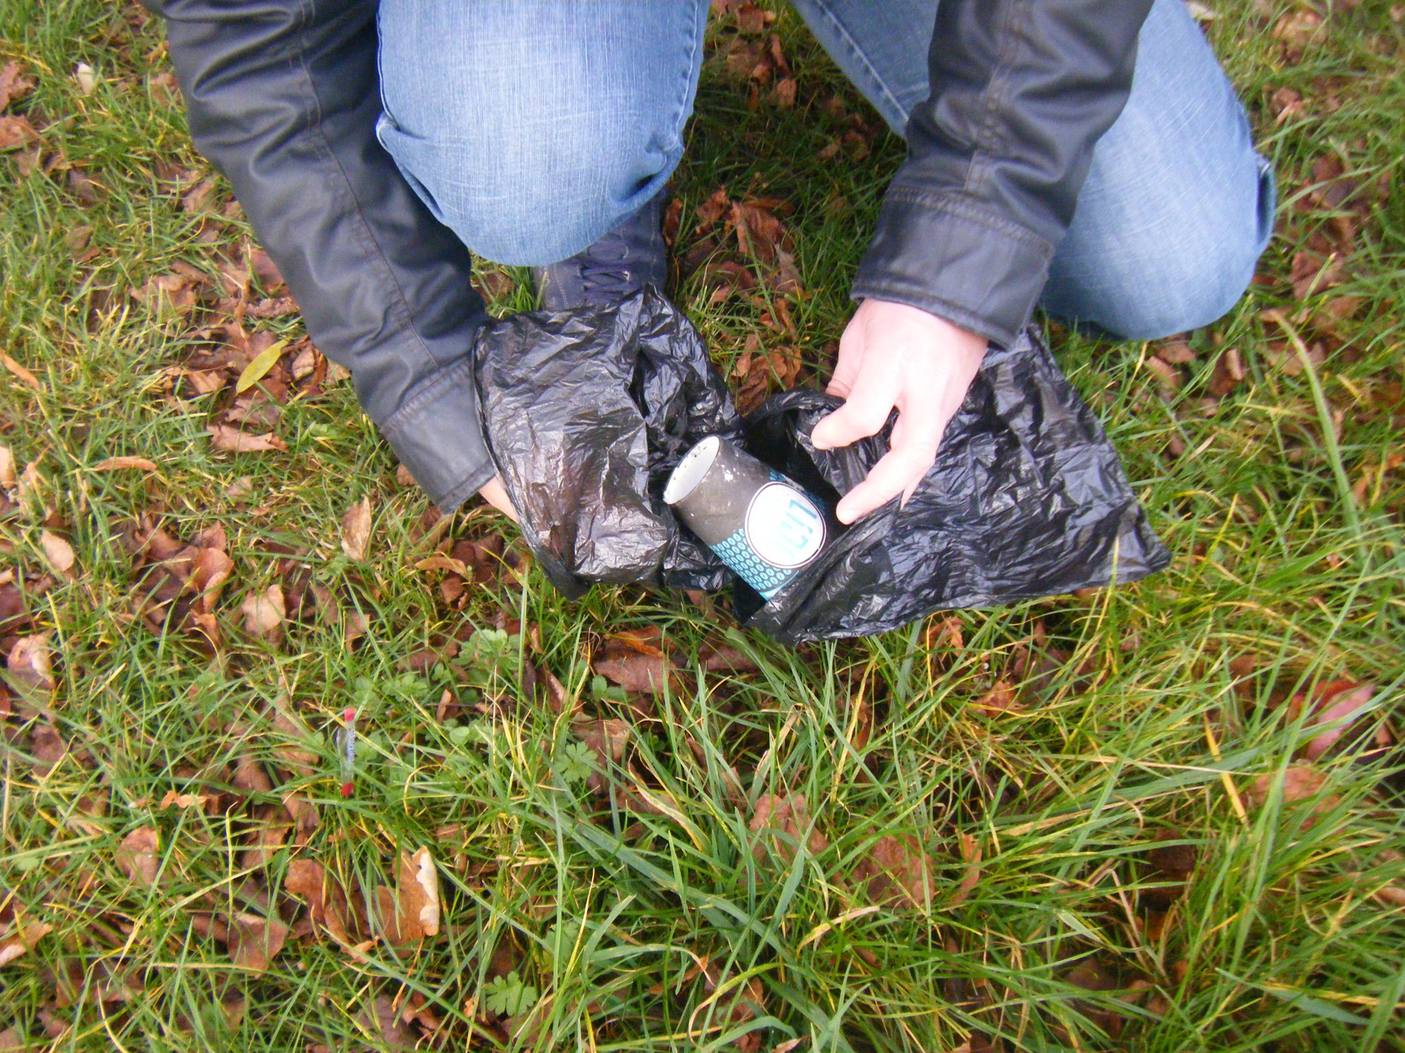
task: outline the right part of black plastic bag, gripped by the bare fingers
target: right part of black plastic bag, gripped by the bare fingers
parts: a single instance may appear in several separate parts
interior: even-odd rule
[[[833,501],[888,452],[888,432],[816,451],[809,432],[842,400],[776,395],[745,421],[743,445]],[[937,461],[839,534],[770,602],[735,583],[739,621],[785,642],[868,636],[933,611],[995,607],[1134,581],[1170,563],[1107,435],[1030,330],[986,351]]]

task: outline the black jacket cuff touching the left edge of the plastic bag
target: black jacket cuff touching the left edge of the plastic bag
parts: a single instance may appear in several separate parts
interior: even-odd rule
[[[466,358],[417,385],[381,424],[381,434],[441,511],[452,511],[497,475]]]

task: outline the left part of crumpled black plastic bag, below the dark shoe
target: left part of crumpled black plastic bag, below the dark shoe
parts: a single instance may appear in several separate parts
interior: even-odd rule
[[[556,588],[726,584],[731,571],[663,503],[694,442],[740,434],[683,312],[645,288],[613,310],[513,314],[479,330],[473,364],[493,463]]]

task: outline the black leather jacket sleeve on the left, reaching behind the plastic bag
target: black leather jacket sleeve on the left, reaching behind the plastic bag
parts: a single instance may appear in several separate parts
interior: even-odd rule
[[[493,476],[471,258],[375,138],[375,0],[149,0],[195,146],[235,188],[329,358],[441,508]]]

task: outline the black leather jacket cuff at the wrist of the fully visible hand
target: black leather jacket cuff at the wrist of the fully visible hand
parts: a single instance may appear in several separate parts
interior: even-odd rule
[[[851,296],[920,307],[1010,347],[1054,244],[960,194],[889,187]]]

